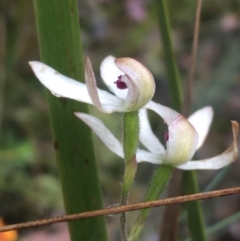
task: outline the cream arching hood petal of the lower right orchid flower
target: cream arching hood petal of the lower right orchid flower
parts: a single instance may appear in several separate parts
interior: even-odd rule
[[[198,134],[191,123],[175,110],[150,101],[145,108],[159,114],[168,125],[167,150],[164,161],[179,165],[190,160],[196,150]]]

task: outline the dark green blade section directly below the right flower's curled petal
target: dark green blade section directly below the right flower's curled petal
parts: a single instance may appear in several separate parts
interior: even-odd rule
[[[183,175],[184,194],[193,194],[198,192],[196,175],[193,171],[186,171]],[[188,227],[192,241],[205,241],[203,214],[199,201],[186,203],[188,213]]]

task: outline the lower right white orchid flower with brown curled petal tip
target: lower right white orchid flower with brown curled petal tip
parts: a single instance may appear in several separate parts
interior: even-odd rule
[[[142,109],[140,111],[140,141],[149,151],[137,150],[138,163],[145,161],[168,164],[184,170],[196,170],[219,169],[236,159],[238,154],[238,123],[236,121],[232,121],[233,142],[225,152],[209,159],[191,161],[195,151],[202,146],[207,136],[213,117],[212,108],[200,109],[188,120],[178,112],[153,101],[149,102],[146,108],[159,114],[168,125],[168,133],[165,135],[166,149],[153,134],[146,109]],[[75,115],[84,121],[112,152],[123,157],[122,144],[99,119],[83,113],[75,113]]]

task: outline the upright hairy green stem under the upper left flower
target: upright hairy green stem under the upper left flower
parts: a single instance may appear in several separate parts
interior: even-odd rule
[[[125,170],[122,184],[121,205],[128,203],[128,195],[137,172],[136,151],[139,140],[138,112],[124,113],[123,115],[123,151]],[[120,215],[122,240],[127,241],[126,213]]]

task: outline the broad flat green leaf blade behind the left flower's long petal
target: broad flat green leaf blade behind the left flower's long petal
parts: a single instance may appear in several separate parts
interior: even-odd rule
[[[84,80],[76,0],[34,0],[41,60],[62,74]],[[81,93],[79,93],[81,94]],[[57,165],[67,214],[102,208],[90,130],[73,112],[85,104],[47,91]],[[105,219],[68,223],[72,241],[106,241]]]

